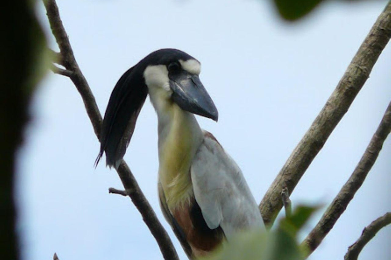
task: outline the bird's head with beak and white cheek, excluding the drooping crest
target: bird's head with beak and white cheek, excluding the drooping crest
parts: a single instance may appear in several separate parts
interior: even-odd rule
[[[184,111],[217,121],[217,109],[199,78],[201,63],[197,59],[180,50],[161,49],[139,64],[152,103],[171,100]]]

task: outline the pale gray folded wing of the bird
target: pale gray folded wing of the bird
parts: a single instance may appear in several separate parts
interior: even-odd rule
[[[208,132],[191,165],[195,200],[210,229],[235,232],[264,229],[261,213],[235,161]]]

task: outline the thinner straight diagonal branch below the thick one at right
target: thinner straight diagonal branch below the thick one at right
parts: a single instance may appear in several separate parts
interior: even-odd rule
[[[352,175],[341,188],[337,197],[332,201],[318,224],[305,238],[302,243],[303,247],[308,248],[308,253],[311,254],[322,242],[323,238],[332,229],[338,218],[345,211],[349,202],[353,199],[356,191],[361,187],[362,183],[375,164],[376,158],[383,146],[385,139],[391,131],[391,103],[389,103],[387,110],[381,122],[373,135],[367,149],[362,155]]]

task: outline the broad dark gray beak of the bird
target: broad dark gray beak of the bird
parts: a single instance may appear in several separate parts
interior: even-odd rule
[[[174,102],[183,110],[217,122],[218,112],[197,75],[181,72],[170,75]]]

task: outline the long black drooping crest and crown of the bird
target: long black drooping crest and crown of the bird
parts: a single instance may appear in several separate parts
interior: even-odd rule
[[[111,92],[104,113],[100,151],[95,167],[106,153],[106,165],[118,167],[132,138],[136,120],[147,98],[148,87],[143,73],[150,65],[169,64],[173,60],[194,59],[187,53],[176,49],[160,49],[150,53],[135,66],[126,71]]]

